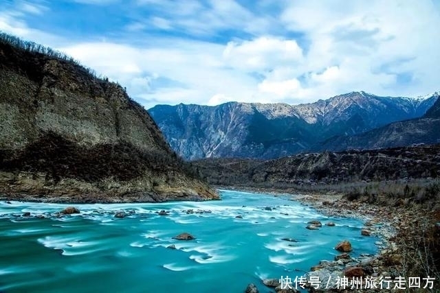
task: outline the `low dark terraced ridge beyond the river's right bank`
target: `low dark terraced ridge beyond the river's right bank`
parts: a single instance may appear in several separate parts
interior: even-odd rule
[[[201,159],[193,162],[209,183],[289,187],[440,177],[440,145],[296,154],[274,160]]]

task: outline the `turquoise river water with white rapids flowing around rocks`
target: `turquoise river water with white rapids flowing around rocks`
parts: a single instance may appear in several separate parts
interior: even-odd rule
[[[0,202],[0,292],[239,293],[248,283],[271,292],[261,279],[302,276],[338,255],[343,239],[353,256],[377,252],[360,220],[322,215],[289,196],[220,193],[210,202],[75,204],[80,214],[42,219],[34,215],[68,205]],[[19,216],[27,211],[31,217]],[[307,230],[310,220],[322,228]],[[183,232],[196,239],[173,239]]]

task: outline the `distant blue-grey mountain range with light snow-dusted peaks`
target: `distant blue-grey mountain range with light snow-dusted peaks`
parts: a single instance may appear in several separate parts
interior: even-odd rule
[[[173,150],[186,159],[271,159],[322,150],[333,137],[360,134],[421,117],[439,97],[378,97],[364,92],[312,104],[229,102],[219,106],[158,105],[148,110]],[[330,149],[329,149],[330,150]]]

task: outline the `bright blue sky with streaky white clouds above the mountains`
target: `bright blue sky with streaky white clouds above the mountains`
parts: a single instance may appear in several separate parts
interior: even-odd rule
[[[440,0],[1,0],[0,30],[156,104],[440,90]]]

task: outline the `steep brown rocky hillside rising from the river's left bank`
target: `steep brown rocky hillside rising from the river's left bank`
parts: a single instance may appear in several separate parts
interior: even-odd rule
[[[0,198],[160,202],[218,198],[118,84],[0,36]]]

